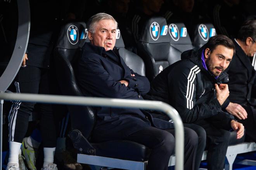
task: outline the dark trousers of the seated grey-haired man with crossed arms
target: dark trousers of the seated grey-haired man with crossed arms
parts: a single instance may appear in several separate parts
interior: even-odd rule
[[[108,131],[111,129],[108,129]],[[195,155],[198,145],[198,136],[195,131],[187,127],[185,131],[184,169],[194,170]],[[174,129],[161,130],[156,127],[144,127],[128,136],[117,134],[105,136],[104,132],[93,134],[93,141],[130,140],[141,143],[151,149],[147,170],[167,170],[170,156],[174,152]],[[201,157],[202,158],[202,157]]]

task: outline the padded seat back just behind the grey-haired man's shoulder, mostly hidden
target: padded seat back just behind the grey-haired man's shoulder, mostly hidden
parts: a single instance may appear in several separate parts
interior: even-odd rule
[[[140,74],[141,76],[145,76],[145,64],[142,58],[140,58],[137,54],[126,50],[125,43],[123,41],[120,30],[116,30],[116,48],[120,56],[125,61],[125,64],[132,69],[134,72]]]

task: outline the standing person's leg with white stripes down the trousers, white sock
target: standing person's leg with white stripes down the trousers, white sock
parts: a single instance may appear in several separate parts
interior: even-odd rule
[[[37,67],[21,67],[16,80],[12,83],[10,91],[13,93],[38,93],[41,71]],[[12,101],[9,113],[9,160],[7,163],[18,165],[19,150],[22,140],[28,129],[28,118],[33,111],[35,103]]]

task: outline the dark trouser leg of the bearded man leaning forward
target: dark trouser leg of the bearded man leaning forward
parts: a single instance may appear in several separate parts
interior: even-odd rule
[[[195,124],[203,127],[206,131],[208,170],[223,170],[230,132],[217,129],[206,120],[197,121]]]

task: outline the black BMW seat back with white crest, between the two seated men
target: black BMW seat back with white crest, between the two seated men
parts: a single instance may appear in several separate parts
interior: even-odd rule
[[[170,65],[170,36],[164,17],[152,17],[144,25],[137,44],[138,55],[145,62],[149,81]]]

